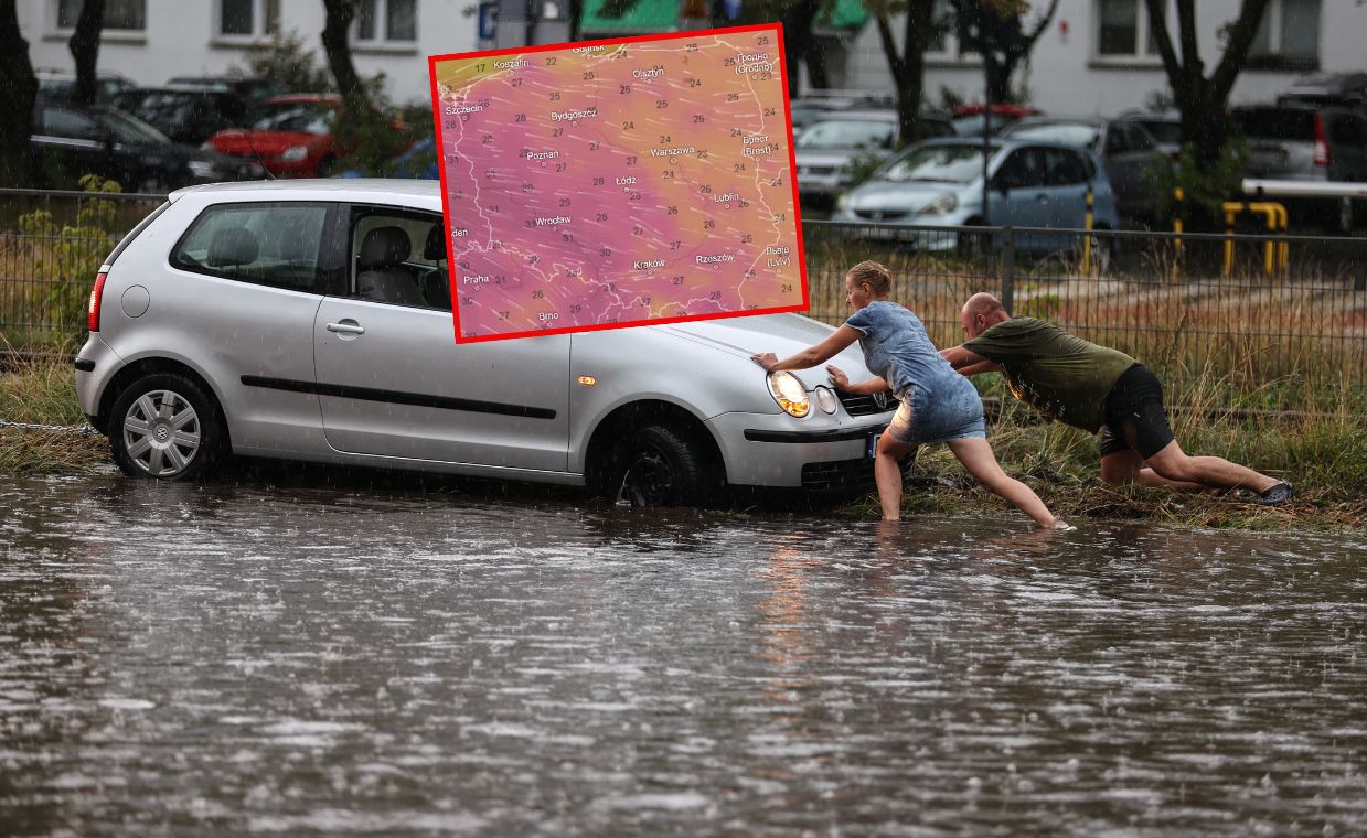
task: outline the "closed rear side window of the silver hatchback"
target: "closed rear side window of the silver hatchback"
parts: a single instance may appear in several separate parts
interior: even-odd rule
[[[328,204],[219,204],[171,252],[182,271],[323,294]]]

